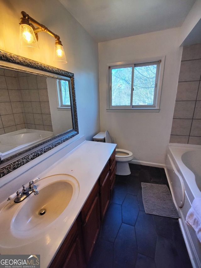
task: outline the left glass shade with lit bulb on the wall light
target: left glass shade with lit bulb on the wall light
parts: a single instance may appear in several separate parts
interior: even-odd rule
[[[31,47],[39,48],[34,30],[32,29],[30,25],[20,24],[19,40],[20,40],[21,47],[31,46]]]

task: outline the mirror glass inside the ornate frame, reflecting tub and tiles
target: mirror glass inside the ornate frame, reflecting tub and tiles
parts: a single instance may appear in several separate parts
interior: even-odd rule
[[[1,160],[73,128],[69,79],[0,68],[0,81]],[[68,102],[63,109],[57,107],[60,91]]]

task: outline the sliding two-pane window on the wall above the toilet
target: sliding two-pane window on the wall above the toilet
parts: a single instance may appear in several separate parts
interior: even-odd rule
[[[160,64],[161,60],[109,67],[109,108],[159,108],[161,92],[161,89],[159,90]]]

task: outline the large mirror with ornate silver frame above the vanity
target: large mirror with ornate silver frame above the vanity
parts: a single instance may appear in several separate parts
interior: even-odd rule
[[[0,51],[0,177],[77,134],[74,74]]]

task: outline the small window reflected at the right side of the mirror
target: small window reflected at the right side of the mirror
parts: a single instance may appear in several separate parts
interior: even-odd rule
[[[70,84],[67,80],[57,80],[58,108],[70,108]]]

